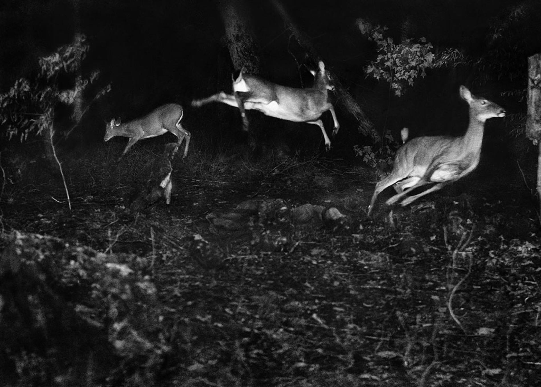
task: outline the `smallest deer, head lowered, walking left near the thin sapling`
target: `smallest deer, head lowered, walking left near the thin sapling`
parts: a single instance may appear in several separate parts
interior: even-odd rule
[[[190,144],[190,132],[182,128],[180,124],[183,115],[184,111],[181,105],[170,103],[156,108],[142,118],[134,119],[125,124],[120,123],[120,118],[118,120],[113,118],[105,130],[103,141],[109,141],[116,136],[129,137],[130,141],[122,152],[124,155],[137,141],[161,136],[169,131],[177,137],[179,145],[183,139],[186,139],[183,155],[186,157]]]

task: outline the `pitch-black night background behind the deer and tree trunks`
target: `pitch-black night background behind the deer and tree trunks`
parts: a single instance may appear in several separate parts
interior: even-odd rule
[[[526,57],[541,49],[541,6],[536,1],[285,0],[282,4],[379,132],[391,130],[396,135],[410,126],[413,136],[459,134],[457,127],[465,128],[467,118],[458,97],[463,83],[504,105],[510,114],[525,110],[524,102],[502,97],[502,92],[525,88]],[[308,68],[313,63],[272,3],[246,1],[245,5],[266,76],[280,84],[309,85]],[[140,117],[168,102],[181,103],[187,110],[184,123],[214,142],[236,135],[230,127],[239,123],[234,109],[189,107],[193,98],[230,88],[234,69],[217,1],[8,0],[0,5],[0,12],[0,91],[35,71],[38,57],[70,43],[76,32],[87,36],[91,50],[86,70],[100,70],[98,85],[111,82],[113,89],[74,132],[84,143],[101,139],[110,117]],[[397,98],[385,82],[365,76],[365,66],[377,53],[360,33],[358,18],[388,26],[395,41],[407,21],[408,37],[426,37],[434,52],[454,47],[486,61],[429,71]],[[491,68],[487,62],[498,66]],[[343,153],[341,143],[364,139],[344,106],[338,103],[337,110],[342,129],[333,149]],[[273,127],[285,125],[270,120]],[[330,125],[329,117],[325,121]],[[314,130],[308,136],[319,140],[320,134]]]

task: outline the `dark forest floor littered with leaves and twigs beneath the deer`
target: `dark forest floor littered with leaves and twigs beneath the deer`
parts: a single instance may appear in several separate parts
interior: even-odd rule
[[[521,179],[474,173],[392,212],[384,192],[368,218],[373,170],[194,153],[171,203],[138,212],[135,151],[64,163],[71,210],[55,175],[6,166],[0,384],[541,385]]]

